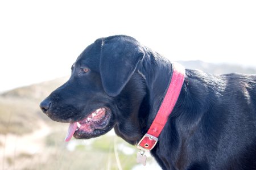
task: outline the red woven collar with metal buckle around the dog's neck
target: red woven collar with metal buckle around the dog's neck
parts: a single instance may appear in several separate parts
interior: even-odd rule
[[[184,82],[185,69],[179,63],[172,64],[172,78],[169,84],[166,95],[164,96],[163,102],[160,105],[158,113],[154,121],[152,122],[150,129],[143,136],[141,141],[137,144],[140,150],[150,151],[158,142],[158,137],[161,131],[166,125],[168,117],[170,116],[172,109],[176,104],[176,101],[180,95],[181,87]]]

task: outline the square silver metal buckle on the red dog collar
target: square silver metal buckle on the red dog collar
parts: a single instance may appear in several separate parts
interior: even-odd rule
[[[139,141],[139,143],[137,144],[137,148],[143,151],[150,151],[152,150],[152,148],[155,147],[157,142],[158,138],[154,137],[151,134],[146,133],[142,137],[141,141]]]

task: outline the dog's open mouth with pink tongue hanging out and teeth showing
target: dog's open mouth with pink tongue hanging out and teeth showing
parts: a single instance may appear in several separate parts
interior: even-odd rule
[[[68,133],[65,141],[68,142],[73,135],[79,137],[82,135],[92,136],[96,130],[104,130],[108,126],[110,120],[110,109],[103,107],[90,113],[81,121],[69,124]]]

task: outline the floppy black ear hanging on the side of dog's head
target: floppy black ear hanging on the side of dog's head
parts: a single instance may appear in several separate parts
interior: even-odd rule
[[[133,75],[144,52],[138,42],[126,36],[102,39],[100,74],[109,96],[117,96]]]

